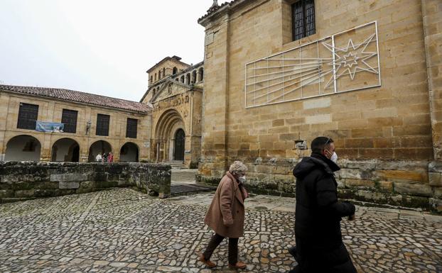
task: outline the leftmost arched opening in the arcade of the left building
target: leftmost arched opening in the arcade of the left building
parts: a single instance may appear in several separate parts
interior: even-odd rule
[[[17,135],[6,144],[5,161],[40,161],[41,144],[31,135]]]

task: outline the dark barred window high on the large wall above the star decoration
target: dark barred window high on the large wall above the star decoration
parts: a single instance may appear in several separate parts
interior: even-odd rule
[[[299,0],[291,5],[293,40],[316,33],[315,1]]]

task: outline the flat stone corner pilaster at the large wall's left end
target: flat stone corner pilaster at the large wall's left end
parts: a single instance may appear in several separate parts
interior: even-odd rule
[[[200,173],[221,177],[227,165],[230,16],[201,24],[205,26],[205,91]]]

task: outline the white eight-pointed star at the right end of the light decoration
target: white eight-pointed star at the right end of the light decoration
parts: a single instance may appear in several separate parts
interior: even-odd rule
[[[336,79],[339,79],[343,75],[350,75],[350,79],[355,79],[356,72],[365,71],[373,74],[379,74],[377,69],[370,66],[365,62],[377,55],[377,52],[366,52],[367,46],[372,43],[373,38],[376,34],[371,35],[369,38],[365,39],[364,42],[359,45],[354,45],[352,39],[350,38],[347,43],[347,48],[338,48],[328,43],[322,43],[325,48],[330,50],[333,54],[333,61],[329,62],[328,65],[333,65],[335,67],[335,72],[333,76],[325,84],[325,88],[330,87]],[[342,52],[342,53],[341,53]],[[341,57],[342,55],[342,57]],[[342,70],[342,71],[341,71]]]

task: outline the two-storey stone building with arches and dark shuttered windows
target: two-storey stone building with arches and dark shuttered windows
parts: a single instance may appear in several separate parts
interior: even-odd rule
[[[67,89],[0,85],[0,161],[93,162],[149,160],[146,104]],[[63,123],[39,132],[38,121]]]

